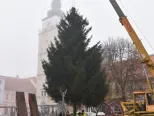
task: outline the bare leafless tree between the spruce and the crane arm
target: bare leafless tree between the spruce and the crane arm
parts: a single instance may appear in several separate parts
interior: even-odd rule
[[[105,63],[109,81],[116,85],[115,89],[119,90],[125,101],[127,86],[133,83],[140,86],[137,80],[143,77],[138,52],[127,39],[109,38],[104,42],[104,56],[107,59]]]

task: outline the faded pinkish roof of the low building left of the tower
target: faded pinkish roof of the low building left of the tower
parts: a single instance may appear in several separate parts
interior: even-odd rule
[[[31,82],[31,80],[33,80],[33,82],[36,83],[36,77],[19,78],[0,75],[0,79],[5,80],[5,90],[27,92],[34,94],[36,93],[36,88],[34,84]]]

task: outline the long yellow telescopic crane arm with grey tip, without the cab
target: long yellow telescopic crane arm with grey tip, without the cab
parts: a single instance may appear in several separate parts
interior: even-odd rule
[[[116,13],[118,14],[121,24],[125,27],[129,36],[131,37],[133,43],[135,44],[135,46],[140,54],[141,61],[147,65],[150,73],[152,74],[152,77],[154,77],[154,63],[151,60],[150,56],[148,55],[148,53],[147,53],[146,49],[144,48],[142,42],[140,41],[139,37],[137,36],[135,30],[131,26],[127,17],[124,15],[123,11],[119,7],[116,0],[110,0],[110,3],[112,4],[113,8],[115,9]],[[148,88],[150,89],[150,91],[152,91],[150,82],[149,82],[149,80],[147,80],[147,81],[148,81]]]

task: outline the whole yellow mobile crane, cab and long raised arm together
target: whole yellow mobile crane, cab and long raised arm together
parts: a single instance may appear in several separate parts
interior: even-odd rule
[[[120,18],[121,24],[127,30],[133,43],[135,44],[141,58],[141,62],[146,64],[152,77],[154,77],[154,63],[144,48],[142,42],[131,26],[129,20],[124,15],[116,0],[109,0]],[[149,79],[147,78],[148,91],[138,91],[133,93],[133,100],[121,102],[124,116],[154,116],[154,91],[152,90]]]

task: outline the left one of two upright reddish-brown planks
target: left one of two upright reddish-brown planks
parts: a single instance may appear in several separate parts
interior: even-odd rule
[[[17,116],[28,116],[24,92],[16,92]]]

